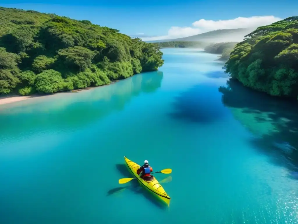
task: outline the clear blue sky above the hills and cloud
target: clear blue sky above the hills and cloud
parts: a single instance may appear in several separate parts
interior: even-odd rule
[[[275,16],[276,20],[276,17],[284,19],[298,15],[296,0],[0,0],[0,5],[56,13],[79,20],[87,19],[101,26],[118,29],[130,36],[165,37],[173,34],[168,33],[171,27],[179,27],[180,30],[174,30],[174,35],[178,36],[177,32],[184,32],[181,33],[182,36],[190,36],[193,32],[197,34],[208,31],[205,25],[203,29],[196,27],[197,30],[190,30],[193,28],[193,22],[200,19],[218,21],[232,20],[239,16]],[[273,22],[275,20],[273,19]],[[265,23],[272,23],[272,18],[266,21],[265,19]],[[190,29],[182,30],[183,27]],[[227,28],[230,28],[229,25]]]

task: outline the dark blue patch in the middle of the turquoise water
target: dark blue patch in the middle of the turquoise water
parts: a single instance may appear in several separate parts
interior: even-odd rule
[[[208,123],[226,115],[217,87],[210,84],[196,85],[181,93],[175,98],[173,107],[169,116],[188,122]]]

